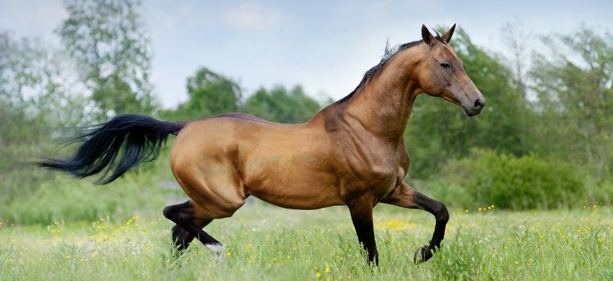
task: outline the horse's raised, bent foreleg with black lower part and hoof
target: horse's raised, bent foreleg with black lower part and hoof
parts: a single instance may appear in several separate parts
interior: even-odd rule
[[[422,209],[434,215],[436,224],[430,244],[419,247],[414,255],[415,263],[428,261],[432,257],[433,251],[440,247],[440,242],[445,237],[445,226],[449,221],[449,212],[445,204],[421,194],[404,182],[383,198],[381,202],[409,209]]]

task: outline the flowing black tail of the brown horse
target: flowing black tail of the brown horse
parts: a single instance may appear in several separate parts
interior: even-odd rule
[[[68,143],[80,143],[72,157],[49,158],[37,164],[66,171],[78,178],[104,170],[97,183],[110,183],[132,166],[156,159],[168,135],[178,133],[183,126],[185,124],[163,122],[144,115],[119,115],[90,127],[89,133],[70,138]]]

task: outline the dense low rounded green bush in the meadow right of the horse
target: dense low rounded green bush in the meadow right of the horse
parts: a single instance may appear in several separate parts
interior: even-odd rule
[[[555,209],[586,202],[576,169],[557,159],[535,155],[515,157],[490,150],[473,150],[442,169],[447,181],[462,186],[474,205],[504,209]]]

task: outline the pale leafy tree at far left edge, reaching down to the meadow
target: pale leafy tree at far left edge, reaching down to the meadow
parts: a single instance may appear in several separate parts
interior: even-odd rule
[[[27,163],[47,148],[45,126],[78,124],[82,107],[71,96],[61,58],[36,39],[16,38],[0,30],[0,204],[23,196],[47,172]]]

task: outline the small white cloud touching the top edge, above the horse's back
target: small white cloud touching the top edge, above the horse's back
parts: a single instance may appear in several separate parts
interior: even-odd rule
[[[283,15],[273,7],[247,1],[230,8],[223,15],[223,20],[228,26],[238,30],[269,30],[281,25]]]

